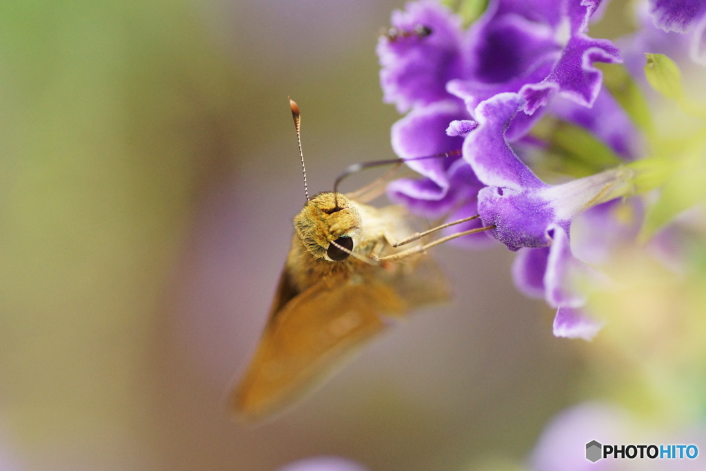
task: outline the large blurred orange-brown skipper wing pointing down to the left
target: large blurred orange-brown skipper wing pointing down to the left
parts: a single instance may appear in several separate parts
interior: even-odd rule
[[[258,419],[292,403],[359,345],[383,330],[380,314],[408,308],[384,282],[341,286],[323,280],[273,312],[255,356],[232,395],[235,410]]]

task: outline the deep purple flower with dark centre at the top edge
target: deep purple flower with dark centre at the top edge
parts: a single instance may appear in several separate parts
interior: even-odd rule
[[[520,93],[522,110],[534,114],[559,95],[590,107],[602,76],[594,61],[619,62],[618,49],[608,40],[585,35],[600,0],[502,1],[489,4],[483,18],[469,31],[471,74],[448,84],[469,109],[493,95]],[[535,118],[536,119],[536,118]],[[521,135],[532,124],[513,132]]]

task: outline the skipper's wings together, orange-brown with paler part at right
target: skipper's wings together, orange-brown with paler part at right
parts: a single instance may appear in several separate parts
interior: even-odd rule
[[[293,266],[306,267],[300,262]],[[384,330],[383,316],[448,299],[445,278],[426,254],[384,267],[351,263],[360,265],[349,275],[322,273],[304,291],[292,282],[292,266],[282,270],[268,323],[231,398],[241,417],[261,419],[293,403]]]

